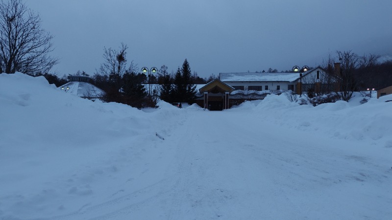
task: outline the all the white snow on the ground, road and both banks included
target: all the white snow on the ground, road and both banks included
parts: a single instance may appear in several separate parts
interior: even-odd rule
[[[392,96],[363,98],[137,110],[2,73],[0,219],[390,219]]]

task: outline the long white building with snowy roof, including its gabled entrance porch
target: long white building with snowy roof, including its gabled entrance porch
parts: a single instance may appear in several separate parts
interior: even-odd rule
[[[297,94],[314,91],[336,91],[337,77],[317,67],[291,73],[220,73],[196,93],[196,103],[208,110],[225,110],[246,100],[264,99],[268,94],[292,90]]]

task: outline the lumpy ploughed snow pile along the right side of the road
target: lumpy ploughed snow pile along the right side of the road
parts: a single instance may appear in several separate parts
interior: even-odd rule
[[[392,97],[392,95],[389,95]],[[349,103],[321,104],[317,107],[288,101],[284,95],[268,95],[255,108],[263,120],[279,122],[282,126],[305,132],[318,131],[330,138],[390,141],[392,105],[385,99],[372,98],[363,105],[363,97],[354,97]]]

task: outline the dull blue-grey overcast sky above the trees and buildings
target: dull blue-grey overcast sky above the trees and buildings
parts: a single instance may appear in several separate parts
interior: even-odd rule
[[[59,76],[92,75],[104,47],[128,63],[188,60],[201,77],[318,66],[336,50],[392,54],[392,0],[25,0],[54,39]]]

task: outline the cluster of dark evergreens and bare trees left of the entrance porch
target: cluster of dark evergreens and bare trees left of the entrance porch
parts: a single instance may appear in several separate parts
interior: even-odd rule
[[[167,66],[161,66],[157,75],[139,72],[133,62],[127,65],[126,44],[119,49],[104,48],[104,60],[93,75],[93,84],[106,92],[103,100],[118,102],[136,108],[156,107],[158,100],[166,102],[194,102],[197,75],[185,59],[177,72],[168,74]]]

